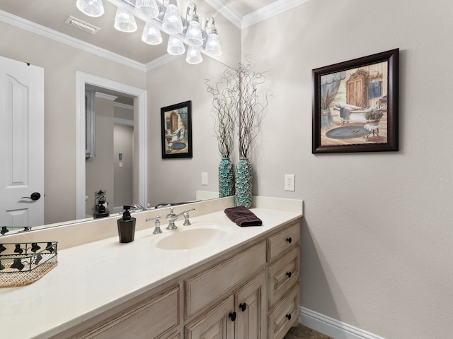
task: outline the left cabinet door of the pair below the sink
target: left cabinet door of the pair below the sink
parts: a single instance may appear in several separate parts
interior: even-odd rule
[[[185,326],[185,339],[234,338],[234,296],[230,295],[198,319]]]

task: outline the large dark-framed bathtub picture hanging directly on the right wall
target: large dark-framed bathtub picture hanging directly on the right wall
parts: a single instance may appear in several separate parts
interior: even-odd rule
[[[312,153],[398,150],[398,54],[312,70]]]

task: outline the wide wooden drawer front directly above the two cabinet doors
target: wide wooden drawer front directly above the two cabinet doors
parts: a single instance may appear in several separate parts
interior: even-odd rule
[[[265,242],[246,249],[217,266],[207,268],[185,282],[186,315],[200,311],[243,278],[265,265]]]

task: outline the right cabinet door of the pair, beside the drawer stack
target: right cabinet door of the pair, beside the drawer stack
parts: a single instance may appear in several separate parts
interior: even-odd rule
[[[266,339],[265,273],[261,273],[236,292],[236,336],[242,339]]]

